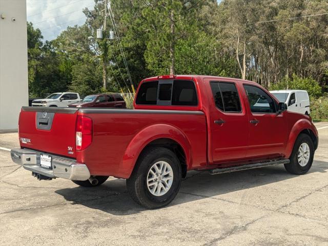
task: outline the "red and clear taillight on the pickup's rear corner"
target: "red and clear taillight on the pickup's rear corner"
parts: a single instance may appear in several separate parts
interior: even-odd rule
[[[77,115],[75,128],[76,150],[85,150],[92,142],[92,119]]]

